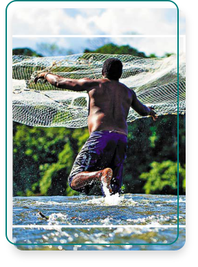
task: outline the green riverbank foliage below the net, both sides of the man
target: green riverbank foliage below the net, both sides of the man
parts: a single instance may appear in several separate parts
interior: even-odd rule
[[[78,152],[89,137],[88,130],[28,127],[17,122],[13,126],[14,195],[78,195],[68,186],[67,178]],[[186,187],[185,126],[186,118],[179,117],[180,193],[185,193]],[[159,117],[157,122],[151,118],[136,120],[129,125],[128,147],[123,175],[124,193],[177,193],[174,184],[177,177],[177,116]],[[156,165],[151,166],[152,162]],[[165,174],[164,162],[173,162]],[[160,178],[161,171],[166,179],[164,176]],[[154,179],[155,172],[158,175],[155,183],[151,182],[150,176],[148,180],[142,178],[145,176],[142,173],[146,173],[153,175]]]

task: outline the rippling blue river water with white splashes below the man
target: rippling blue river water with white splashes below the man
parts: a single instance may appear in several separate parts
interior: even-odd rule
[[[14,197],[12,242],[19,250],[179,250],[186,242],[183,195],[178,218],[177,236],[174,195]]]

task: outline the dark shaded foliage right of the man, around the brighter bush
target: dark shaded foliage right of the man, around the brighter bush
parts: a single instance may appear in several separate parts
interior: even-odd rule
[[[151,118],[142,118],[130,124],[127,158],[124,164],[125,191],[145,193],[146,182],[140,179],[140,175],[150,171],[152,162],[166,160],[177,162],[177,116],[159,117],[156,122]],[[179,161],[181,167],[184,167],[186,163],[185,116],[179,116]]]

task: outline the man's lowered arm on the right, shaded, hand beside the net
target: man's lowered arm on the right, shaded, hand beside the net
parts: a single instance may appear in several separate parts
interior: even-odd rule
[[[153,120],[156,120],[157,118],[157,114],[153,111],[153,107],[146,107],[146,105],[142,104],[140,100],[137,99],[135,92],[133,92],[131,107],[140,114],[140,116],[152,116]]]

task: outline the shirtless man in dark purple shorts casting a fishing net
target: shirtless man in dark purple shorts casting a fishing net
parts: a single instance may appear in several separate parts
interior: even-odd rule
[[[90,137],[78,154],[69,175],[69,186],[75,191],[89,194],[97,183],[104,195],[105,186],[110,193],[120,193],[123,164],[126,158],[128,127],[126,118],[132,107],[141,116],[157,115],[137,99],[135,92],[119,82],[122,62],[108,58],[102,67],[102,78],[74,80],[43,72],[35,78],[45,79],[51,85],[89,94],[88,127]]]

